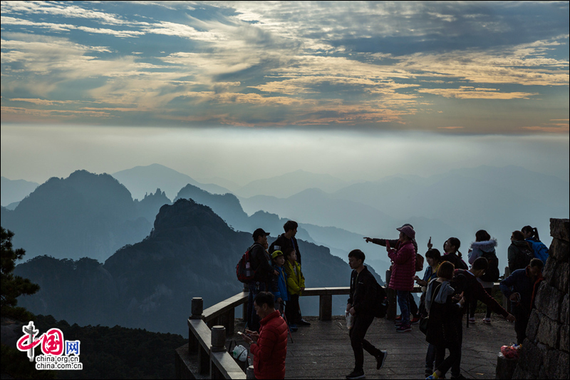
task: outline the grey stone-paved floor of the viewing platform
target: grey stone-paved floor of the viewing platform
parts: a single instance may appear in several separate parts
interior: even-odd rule
[[[481,322],[463,328],[461,370],[467,379],[494,379],[497,354],[503,344],[516,342],[514,325],[493,315],[492,324]],[[345,379],[354,365],[344,317],[331,322],[319,322],[306,317],[310,327],[299,327],[289,340],[286,359],[286,379]],[[425,379],[427,342],[418,325],[410,333],[396,333],[393,322],[375,319],[366,339],[380,349],[388,350],[383,369],[376,371],[375,360],[364,352],[367,379]],[[447,375],[448,379],[450,374]]]

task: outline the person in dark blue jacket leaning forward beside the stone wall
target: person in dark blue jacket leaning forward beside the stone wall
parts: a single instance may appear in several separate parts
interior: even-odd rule
[[[511,300],[512,314],[517,318],[517,322],[514,322],[514,331],[517,332],[518,344],[522,344],[527,337],[534,289],[544,279],[542,267],[544,267],[542,261],[534,258],[527,267],[512,272],[500,285],[502,294]]]

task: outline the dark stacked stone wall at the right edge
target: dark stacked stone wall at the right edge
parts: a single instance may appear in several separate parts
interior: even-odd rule
[[[570,220],[551,219],[549,259],[513,379],[569,379]]]

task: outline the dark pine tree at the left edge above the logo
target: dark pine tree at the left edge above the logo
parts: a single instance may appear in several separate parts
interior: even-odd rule
[[[20,276],[14,276],[14,267],[16,260],[21,260],[26,254],[22,248],[12,249],[12,237],[14,232],[1,229],[1,302],[0,314],[2,317],[11,317],[21,321],[29,321],[33,318],[32,314],[24,307],[16,307],[18,297],[21,294],[29,295],[38,292],[40,289],[38,284],[33,284],[29,279]]]

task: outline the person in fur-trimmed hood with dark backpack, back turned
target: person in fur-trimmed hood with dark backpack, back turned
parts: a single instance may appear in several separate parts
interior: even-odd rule
[[[475,242],[471,243],[471,249],[469,250],[469,263],[473,264],[475,260],[479,257],[484,257],[487,259],[488,267],[486,272],[479,278],[479,281],[485,291],[492,297],[492,291],[494,282],[499,279],[499,259],[497,258],[497,253],[494,248],[497,247],[497,240],[492,239],[489,232],[485,230],[479,230],[475,233]],[[469,322],[475,323],[475,309],[477,308],[477,299],[472,299],[469,314]],[[491,309],[487,307],[487,314],[483,319],[483,323],[491,323]]]

